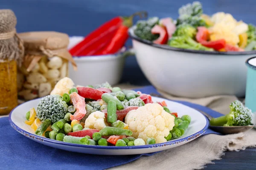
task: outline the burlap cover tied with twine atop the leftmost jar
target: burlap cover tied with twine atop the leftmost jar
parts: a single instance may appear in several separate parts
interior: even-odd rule
[[[23,61],[23,42],[17,36],[15,26],[17,18],[12,10],[0,10],[0,60]]]

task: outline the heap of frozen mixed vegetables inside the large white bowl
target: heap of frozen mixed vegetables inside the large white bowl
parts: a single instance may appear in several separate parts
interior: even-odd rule
[[[201,51],[252,51],[256,49],[256,28],[231,14],[204,14],[200,2],[178,9],[179,17],[152,17],[137,22],[134,34],[155,44]]]

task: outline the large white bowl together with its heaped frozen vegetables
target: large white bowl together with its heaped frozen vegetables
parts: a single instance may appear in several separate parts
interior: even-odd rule
[[[255,27],[223,12],[206,16],[199,2],[181,7],[179,14],[177,21],[153,17],[129,29],[148,80],[174,96],[243,97],[244,62],[256,54]]]

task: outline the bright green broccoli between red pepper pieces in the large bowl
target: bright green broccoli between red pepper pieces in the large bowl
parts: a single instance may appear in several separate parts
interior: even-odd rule
[[[189,36],[172,37],[168,44],[175,48],[185,48],[191,50],[213,51],[212,48],[207,48],[196,42]]]

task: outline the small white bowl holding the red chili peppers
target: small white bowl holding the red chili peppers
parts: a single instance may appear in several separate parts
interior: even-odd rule
[[[79,37],[70,37],[71,48],[73,41],[82,40]],[[125,55],[123,48],[117,54],[99,55],[99,56],[81,56],[73,57],[77,64],[77,71],[74,71],[72,65],[69,65],[69,77],[76,85],[96,85],[102,82],[108,82],[110,85],[117,84],[121,77],[125,65]]]

